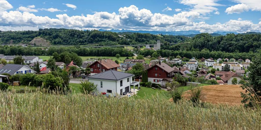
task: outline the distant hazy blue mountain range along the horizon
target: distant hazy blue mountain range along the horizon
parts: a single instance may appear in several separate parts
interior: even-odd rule
[[[110,29],[110,30],[104,30],[104,29],[99,29],[99,31],[111,31],[111,32],[133,32],[133,33],[149,33],[149,34],[162,34],[162,35],[184,35],[184,36],[195,36],[194,34],[200,34],[201,32],[199,31],[144,31],[144,30],[119,30],[119,29]],[[224,32],[214,32],[213,35],[226,35],[226,34],[238,34],[237,32],[229,32],[229,31],[224,31]]]

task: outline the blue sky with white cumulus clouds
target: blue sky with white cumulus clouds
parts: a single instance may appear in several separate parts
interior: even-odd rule
[[[0,30],[261,31],[261,0],[0,0]]]

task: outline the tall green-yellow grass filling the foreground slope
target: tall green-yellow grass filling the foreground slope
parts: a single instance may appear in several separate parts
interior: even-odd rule
[[[260,129],[260,109],[86,94],[0,92],[0,129]]]

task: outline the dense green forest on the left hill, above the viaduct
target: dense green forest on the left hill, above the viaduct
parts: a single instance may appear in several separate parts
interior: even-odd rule
[[[156,40],[162,43],[184,42],[188,38],[185,36],[158,36],[142,33],[115,33],[109,31],[97,30],[75,30],[75,29],[39,29],[39,31],[3,31],[0,32],[0,43],[29,43],[35,37],[42,37],[57,45],[87,45],[93,43],[102,43],[101,45],[117,44],[152,44]]]

